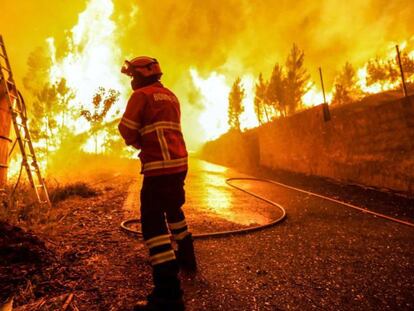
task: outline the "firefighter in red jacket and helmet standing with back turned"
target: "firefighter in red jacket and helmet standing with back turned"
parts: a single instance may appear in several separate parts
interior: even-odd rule
[[[131,77],[133,93],[118,129],[126,145],[141,150],[141,225],[154,282],[147,301],[139,302],[134,310],[184,310],[178,272],[181,268],[195,273],[197,265],[181,209],[188,164],[180,104],[161,84],[162,72],[156,59],[140,56],[125,61],[121,72]]]

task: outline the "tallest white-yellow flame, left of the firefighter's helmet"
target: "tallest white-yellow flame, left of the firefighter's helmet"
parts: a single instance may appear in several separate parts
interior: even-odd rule
[[[63,58],[56,56],[55,40],[47,39],[52,66],[50,81],[57,83],[66,79],[68,87],[74,92],[69,108],[92,109],[92,98],[99,87],[115,89],[120,92],[120,101],[111,109],[120,110],[126,101],[128,91],[125,79],[120,74],[122,55],[117,42],[118,26],[111,19],[114,5],[111,0],[91,0],[85,11],[79,14],[78,23],[67,37],[67,52]],[[70,122],[77,132],[90,128],[83,118]],[[87,141],[84,150],[94,150],[93,139]]]

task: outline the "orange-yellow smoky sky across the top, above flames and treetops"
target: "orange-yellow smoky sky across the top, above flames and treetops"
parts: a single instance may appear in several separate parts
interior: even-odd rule
[[[131,3],[139,7],[135,27],[125,33],[124,50],[159,54],[172,64],[208,71],[231,57],[247,70],[270,71],[296,42],[306,52],[310,71],[322,65],[330,76],[346,60],[366,60],[390,41],[414,35],[411,0],[115,2],[117,16],[127,13]],[[0,1],[0,32],[17,76],[28,53],[46,37],[62,37],[85,3]]]

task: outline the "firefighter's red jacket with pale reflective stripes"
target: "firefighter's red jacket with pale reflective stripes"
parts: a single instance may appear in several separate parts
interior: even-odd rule
[[[132,93],[119,132],[127,145],[141,149],[141,173],[157,176],[187,170],[187,150],[177,97],[160,82]]]

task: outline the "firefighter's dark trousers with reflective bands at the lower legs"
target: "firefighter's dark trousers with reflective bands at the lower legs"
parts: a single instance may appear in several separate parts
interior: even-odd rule
[[[182,295],[168,228],[176,241],[189,235],[181,209],[186,174],[146,176],[141,189],[142,234],[153,268],[154,294],[167,299]]]

